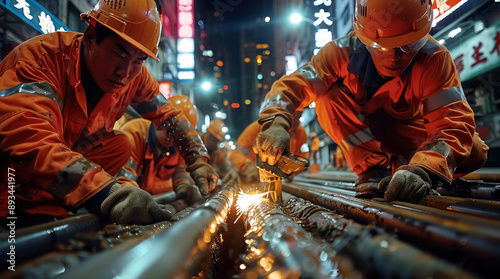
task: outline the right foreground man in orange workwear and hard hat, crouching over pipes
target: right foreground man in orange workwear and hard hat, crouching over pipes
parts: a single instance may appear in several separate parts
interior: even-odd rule
[[[358,196],[417,202],[480,168],[489,148],[450,53],[429,35],[432,20],[429,0],[357,0],[354,32],[273,84],[254,152],[275,164],[291,114],[315,101],[358,175]]]

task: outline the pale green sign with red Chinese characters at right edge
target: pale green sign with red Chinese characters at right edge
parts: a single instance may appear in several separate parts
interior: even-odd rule
[[[462,81],[500,66],[500,25],[483,30],[450,50]]]

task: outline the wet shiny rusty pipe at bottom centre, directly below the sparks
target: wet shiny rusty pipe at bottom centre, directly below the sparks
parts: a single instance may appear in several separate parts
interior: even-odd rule
[[[362,278],[352,262],[285,216],[269,201],[246,212],[239,278]]]

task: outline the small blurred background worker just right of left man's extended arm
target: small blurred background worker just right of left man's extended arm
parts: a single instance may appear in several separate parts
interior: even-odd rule
[[[200,135],[210,155],[210,164],[222,177],[222,183],[240,184],[238,171],[229,160],[227,143],[223,142],[225,126],[224,121],[214,119],[210,122],[207,132]]]

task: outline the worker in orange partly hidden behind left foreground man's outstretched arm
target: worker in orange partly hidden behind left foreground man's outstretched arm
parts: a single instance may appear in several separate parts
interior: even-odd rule
[[[196,127],[196,107],[187,96],[173,96],[168,101],[184,113],[191,126]],[[152,195],[175,190],[177,198],[186,198],[190,203],[202,200],[179,151],[151,121],[131,119],[120,131],[127,135],[132,147],[130,159],[115,176],[120,183],[133,181]]]

